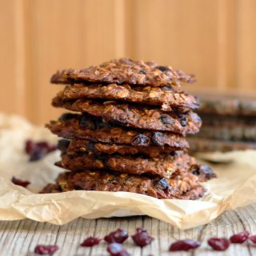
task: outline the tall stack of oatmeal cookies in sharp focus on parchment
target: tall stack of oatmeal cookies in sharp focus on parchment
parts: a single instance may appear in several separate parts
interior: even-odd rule
[[[179,90],[193,76],[155,62],[121,58],[83,70],[58,71],[66,84],[53,106],[63,114],[47,127],[62,139],[58,166],[66,171],[42,193],[69,190],[128,191],[155,198],[196,199],[214,178],[187,154],[186,134],[201,119],[198,100]]]

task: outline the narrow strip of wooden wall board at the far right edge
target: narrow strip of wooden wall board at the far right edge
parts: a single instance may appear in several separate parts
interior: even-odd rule
[[[256,94],[256,1],[237,1],[237,58],[238,90]]]

